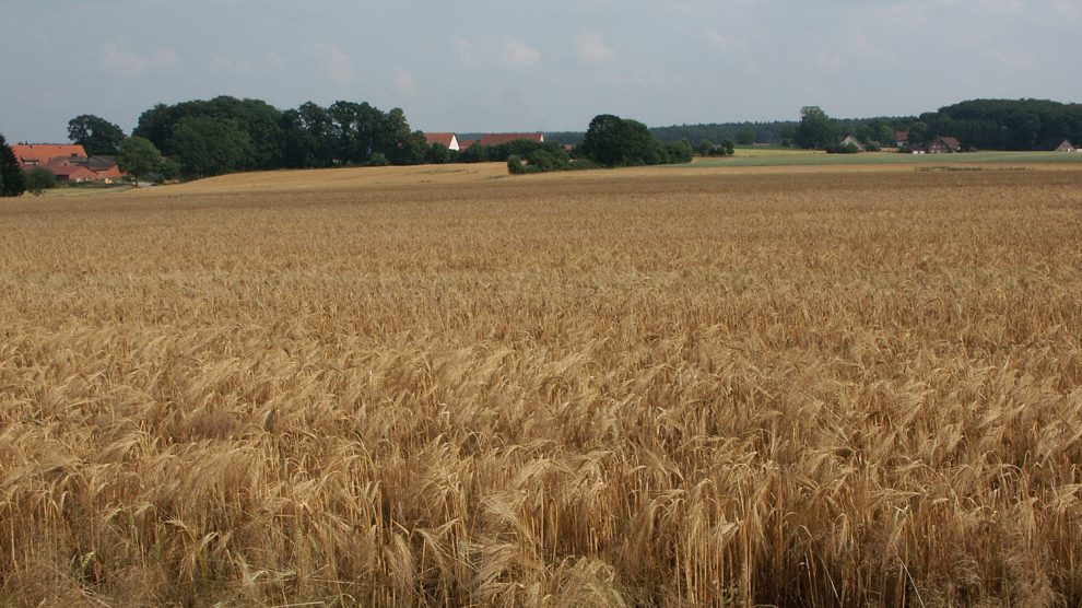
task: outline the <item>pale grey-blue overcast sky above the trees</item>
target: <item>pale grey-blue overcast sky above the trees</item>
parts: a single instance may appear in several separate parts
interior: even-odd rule
[[[401,107],[439,131],[1082,102],[1082,0],[0,0],[0,132],[126,132],[216,95]]]

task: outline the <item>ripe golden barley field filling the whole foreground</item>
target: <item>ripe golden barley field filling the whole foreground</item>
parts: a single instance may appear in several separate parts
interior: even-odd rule
[[[503,173],[0,206],[0,606],[1082,605],[1082,171]]]

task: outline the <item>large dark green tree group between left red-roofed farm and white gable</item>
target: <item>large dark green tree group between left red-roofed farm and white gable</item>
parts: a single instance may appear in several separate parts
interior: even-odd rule
[[[170,160],[156,169],[167,177],[445,160],[422,132],[410,129],[400,108],[383,112],[344,101],[328,107],[308,102],[284,112],[260,100],[231,96],[158,104],[139,117],[132,138],[93,115],[71,119],[68,136],[92,155],[121,154],[129,139],[139,142],[131,149],[146,150],[149,142]]]

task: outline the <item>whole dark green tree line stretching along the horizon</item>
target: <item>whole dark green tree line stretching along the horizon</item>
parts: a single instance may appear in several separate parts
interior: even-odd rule
[[[68,122],[69,138],[91,155],[118,155],[121,168],[142,177],[198,178],[224,173],[331,166],[507,162],[518,171],[682,163],[692,153],[732,154],[734,145],[776,144],[845,152],[838,141],[852,133],[874,150],[892,147],[896,132],[912,144],[939,136],[958,138],[969,149],[1032,150],[1042,141],[1082,141],[1082,104],[1044,100],[974,100],[909,117],[835,119],[816,106],[799,121],[681,125],[649,129],[642,122],[600,115],[585,132],[546,135],[543,144],[525,141],[447,150],[410,129],[400,108],[384,112],[368,103],[313,102],[280,110],[260,100],[219,96],[158,104],[139,117],[132,138],[97,116]],[[136,139],[126,148],[129,139]],[[687,143],[698,141],[692,149]],[[717,143],[715,143],[717,142]],[[563,144],[576,144],[568,153]],[[25,187],[24,176],[3,177]],[[20,190],[22,191],[22,190]]]

